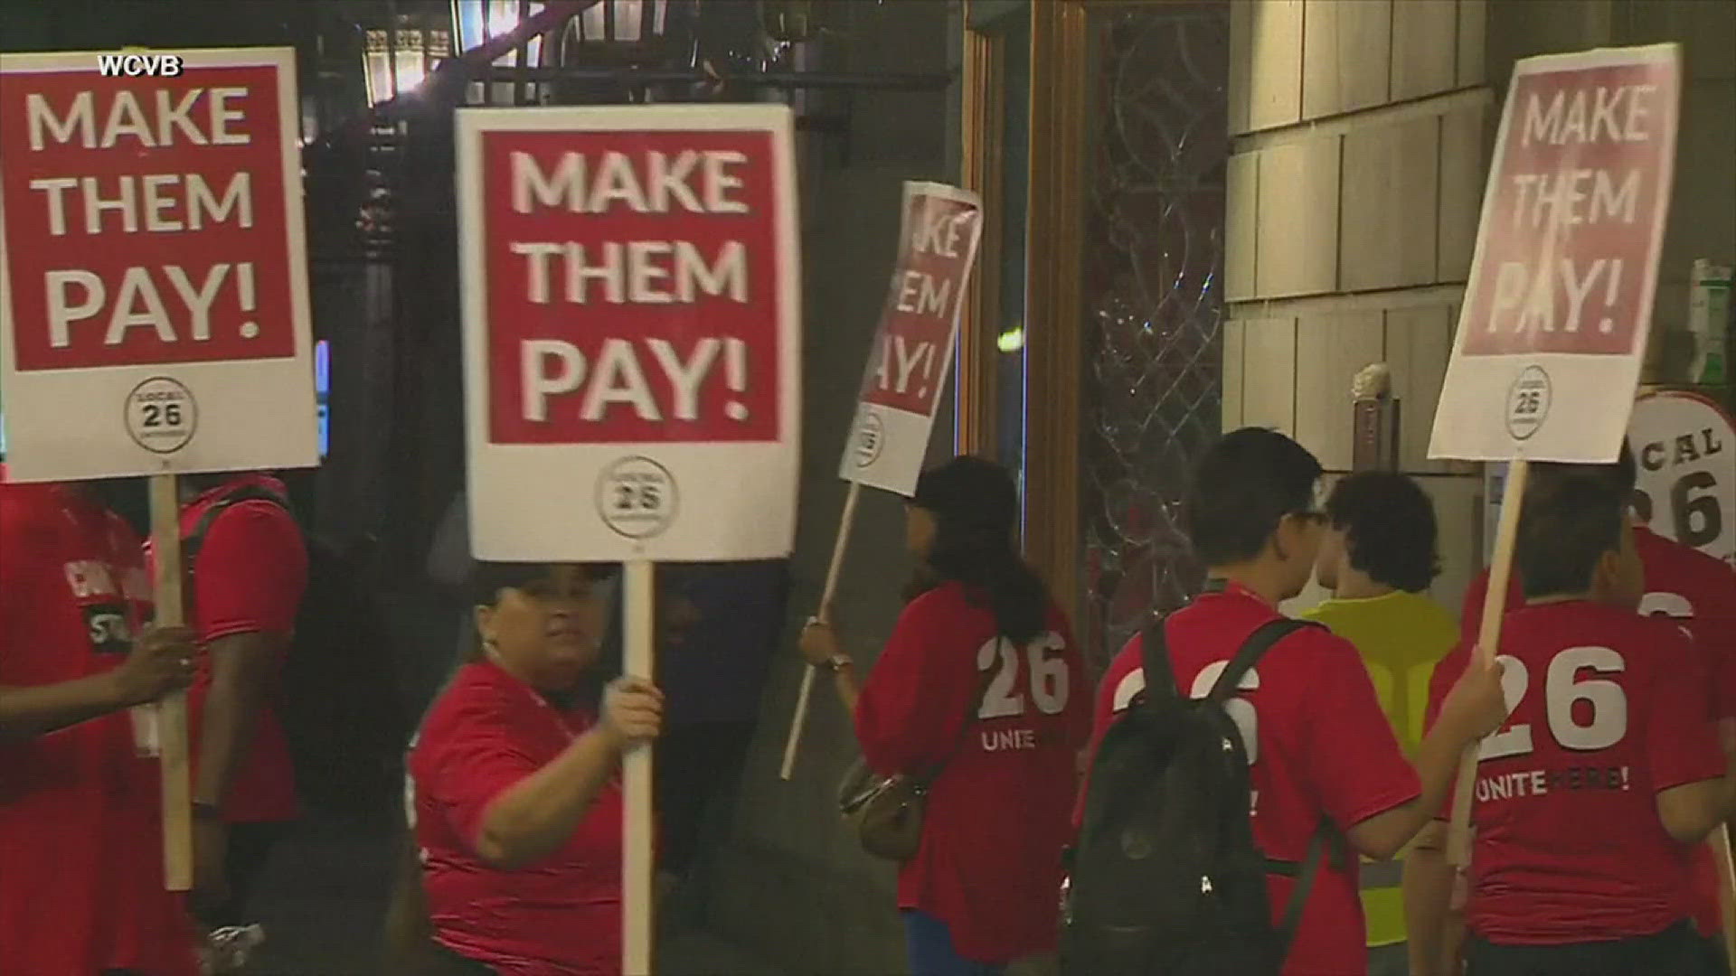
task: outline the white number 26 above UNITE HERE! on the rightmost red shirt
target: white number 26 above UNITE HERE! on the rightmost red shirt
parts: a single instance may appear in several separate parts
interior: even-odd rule
[[[1502,696],[1507,700],[1507,714],[1512,716],[1531,688],[1531,672],[1519,658],[1500,655],[1495,660],[1505,665]],[[1627,693],[1608,677],[1580,681],[1581,670],[1594,676],[1621,674],[1627,670],[1627,662],[1609,648],[1568,648],[1550,658],[1543,676],[1543,712],[1549,735],[1562,748],[1580,752],[1609,748],[1627,736]],[[1576,714],[1575,709],[1580,702],[1585,702],[1588,709],[1580,709]],[[1585,721],[1581,722],[1580,717]],[[1531,722],[1519,722],[1483,740],[1477,759],[1529,755],[1531,750]]]

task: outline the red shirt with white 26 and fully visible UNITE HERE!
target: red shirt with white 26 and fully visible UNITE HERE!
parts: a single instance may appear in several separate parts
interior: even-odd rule
[[[1470,650],[1436,667],[1430,714]],[[1627,610],[1549,603],[1507,615],[1502,656],[1517,705],[1477,764],[1470,929],[1562,945],[1686,919],[1694,849],[1665,834],[1654,797],[1724,775],[1693,641]]]

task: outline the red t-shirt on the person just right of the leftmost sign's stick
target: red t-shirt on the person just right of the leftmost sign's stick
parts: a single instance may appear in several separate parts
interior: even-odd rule
[[[245,486],[285,495],[283,483],[273,478],[234,478],[181,509],[181,537],[191,537],[214,504]],[[295,519],[273,502],[236,502],[212,521],[198,564],[187,573],[187,620],[207,646],[240,634],[293,634],[295,613],[306,590],[307,549]],[[194,762],[210,689],[212,667],[207,655],[200,660],[187,693],[187,735]],[[247,762],[236,769],[229,785],[224,816],[231,823],[274,823],[297,816],[290,743],[269,702],[260,707]]]

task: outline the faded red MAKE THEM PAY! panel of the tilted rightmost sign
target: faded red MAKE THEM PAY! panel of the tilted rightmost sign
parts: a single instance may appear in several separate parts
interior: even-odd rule
[[[1462,353],[1632,354],[1675,153],[1668,63],[1514,76]]]

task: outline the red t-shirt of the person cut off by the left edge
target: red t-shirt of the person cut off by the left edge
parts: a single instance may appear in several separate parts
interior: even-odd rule
[[[0,684],[113,669],[149,610],[125,521],[68,488],[0,485]],[[193,976],[193,946],[128,712],[0,742],[0,973]]]

